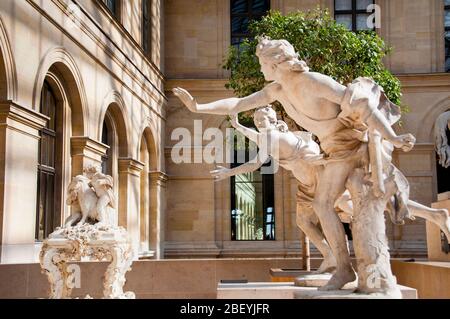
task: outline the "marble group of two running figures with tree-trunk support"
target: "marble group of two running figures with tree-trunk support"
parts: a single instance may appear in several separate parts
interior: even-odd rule
[[[324,256],[318,272],[333,271],[320,290],[339,290],[357,279],[359,293],[401,298],[390,267],[384,213],[396,224],[425,218],[447,237],[450,221],[447,210],[412,201],[407,179],[392,164],[394,148],[407,152],[415,143],[411,134],[397,135],[392,129],[400,108],[372,79],[361,77],[344,86],[310,71],[286,40],[262,37],[256,55],[269,84],[252,95],[198,104],[186,90],[173,90],[192,112],[230,115],[232,125],[250,140],[271,145],[260,147],[255,161],[233,169],[219,166],[211,173],[221,180],[256,170],[269,156],[278,161],[298,180],[297,224]],[[275,101],[305,132],[289,131],[277,120],[270,107]],[[252,109],[257,131],[241,125],[237,117]],[[448,148],[439,154],[448,166]],[[356,265],[343,219],[352,225]]]

